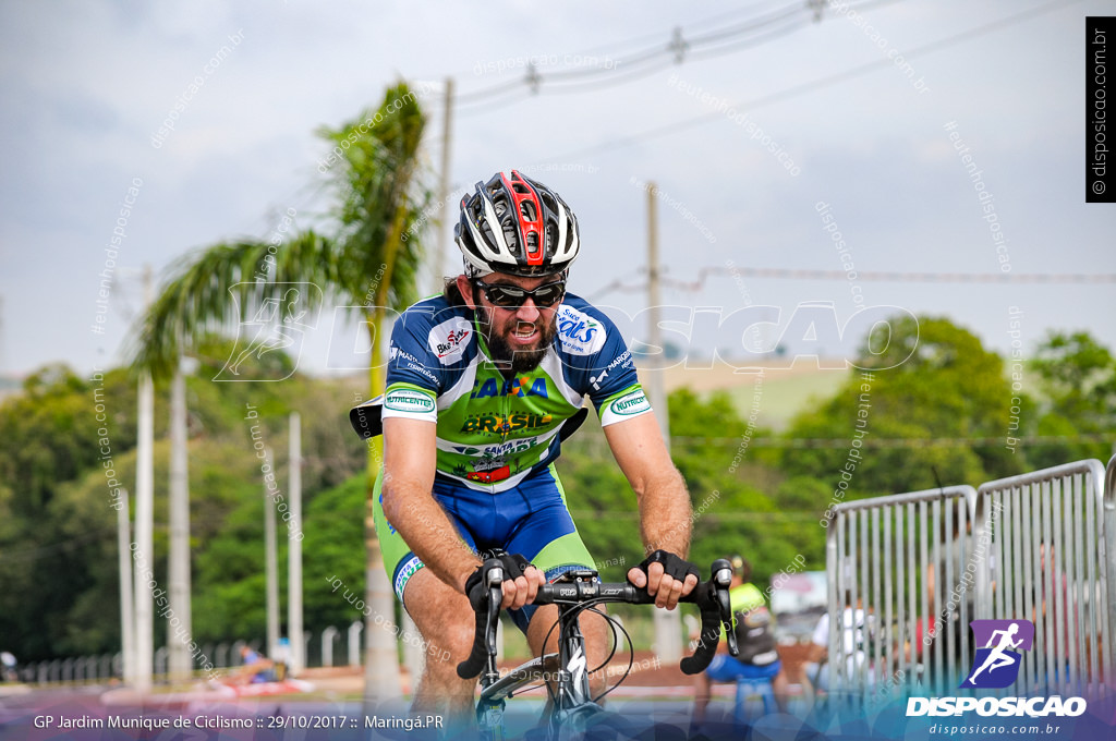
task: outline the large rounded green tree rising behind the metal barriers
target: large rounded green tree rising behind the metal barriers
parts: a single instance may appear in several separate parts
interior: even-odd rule
[[[1021,458],[999,442],[1013,396],[1003,359],[968,329],[945,318],[898,317],[865,339],[857,365],[869,371],[792,422],[788,437],[834,443],[787,449],[788,473],[825,481],[839,501],[841,481],[849,497],[878,495],[1022,470]],[[864,442],[854,450],[858,432]],[[887,444],[897,439],[912,442]]]

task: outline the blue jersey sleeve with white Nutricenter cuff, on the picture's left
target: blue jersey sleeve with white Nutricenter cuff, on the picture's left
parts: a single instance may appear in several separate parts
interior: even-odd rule
[[[414,307],[392,327],[383,418],[437,422],[437,395],[444,379],[437,358],[427,347],[430,330],[431,314]]]

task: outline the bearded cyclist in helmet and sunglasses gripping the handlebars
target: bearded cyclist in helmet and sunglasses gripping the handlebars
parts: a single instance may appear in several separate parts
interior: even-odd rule
[[[475,681],[455,667],[473,641],[465,595],[481,579],[478,551],[508,554],[502,607],[535,655],[554,651],[543,641],[557,617],[554,605],[531,605],[538,587],[594,564],[554,469],[585,396],[638,501],[651,556],[628,579],[673,609],[698,569],[683,560],[690,497],[632,354],[602,311],[566,292],[580,248],[574,212],[541,183],[497,173],[462,200],[454,235],[464,272],[400,316],[385,393],[350,420],[365,436],[383,425],[374,514],[384,566],[426,655],[450,656],[426,662],[412,710],[472,722]],[[591,668],[607,628],[598,617],[581,629]]]

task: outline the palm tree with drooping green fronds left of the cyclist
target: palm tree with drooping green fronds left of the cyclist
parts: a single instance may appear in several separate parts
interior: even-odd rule
[[[381,329],[387,309],[402,310],[417,298],[426,223],[421,214],[431,199],[420,164],[425,124],[415,94],[400,83],[387,90],[378,109],[366,110],[340,128],[319,129],[319,136],[335,145],[327,160],[333,164],[327,175],[333,205],[324,230],[298,231],[286,241],[220,242],[193,256],[170,277],[142,319],[132,353],[134,367],[170,377],[179,356],[210,333],[246,323],[269,306],[281,310],[297,299],[298,308],[307,311],[346,306],[350,318],[365,324],[372,340],[369,391],[381,393],[385,365]],[[292,283],[317,288],[292,295]],[[281,320],[281,311],[273,319]],[[389,618],[394,600],[372,526],[372,491],[381,460],[377,439],[367,460],[365,603],[374,615]],[[373,627],[367,619],[368,700],[398,694],[395,636]]]

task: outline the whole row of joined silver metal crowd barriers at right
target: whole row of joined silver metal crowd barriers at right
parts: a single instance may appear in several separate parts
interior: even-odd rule
[[[849,696],[1116,693],[1116,456],[834,508],[829,685]],[[970,620],[1028,619],[1004,690],[965,690]]]

